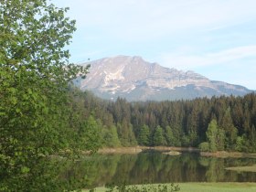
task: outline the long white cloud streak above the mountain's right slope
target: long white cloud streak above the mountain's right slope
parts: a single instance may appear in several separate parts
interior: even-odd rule
[[[189,55],[186,52],[163,54],[161,63],[178,69],[196,69],[211,65],[227,64],[231,61],[247,58],[256,59],[256,46],[229,48],[219,52],[209,52],[201,55]]]

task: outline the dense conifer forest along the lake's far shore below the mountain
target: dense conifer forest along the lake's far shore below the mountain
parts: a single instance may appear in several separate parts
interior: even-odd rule
[[[103,146],[199,146],[203,151],[256,151],[256,96],[191,101],[103,101],[73,89],[84,118],[98,123]],[[81,109],[80,109],[81,110]]]

